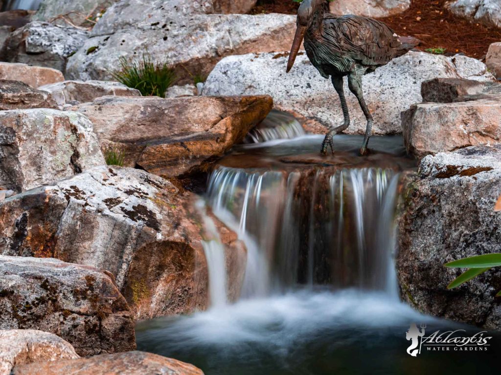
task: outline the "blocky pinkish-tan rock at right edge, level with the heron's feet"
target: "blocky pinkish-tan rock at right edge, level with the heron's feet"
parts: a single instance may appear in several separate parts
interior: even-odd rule
[[[501,140],[501,95],[454,103],[413,104],[402,112],[404,142],[409,153],[436,152]]]

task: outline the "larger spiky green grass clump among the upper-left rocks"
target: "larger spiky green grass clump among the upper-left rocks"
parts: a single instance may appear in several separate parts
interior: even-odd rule
[[[143,96],[165,97],[165,91],[174,83],[174,70],[166,63],[154,61],[143,54],[141,61],[120,58],[121,70],[112,72],[117,81],[138,89]]]

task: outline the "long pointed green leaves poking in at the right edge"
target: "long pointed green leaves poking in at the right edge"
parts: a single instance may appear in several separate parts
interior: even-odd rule
[[[470,256],[467,258],[454,260],[445,264],[446,267],[450,268],[469,268],[468,270],[457,276],[448,286],[447,289],[455,288],[466,281],[471,280],[473,277],[478,276],[489,270],[492,267],[501,266],[501,254],[485,254]],[[496,296],[501,296],[501,290],[496,294]]]

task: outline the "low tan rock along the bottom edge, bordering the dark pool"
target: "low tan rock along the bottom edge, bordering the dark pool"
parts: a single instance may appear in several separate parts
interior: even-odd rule
[[[78,375],[203,375],[202,370],[192,364],[143,351],[22,365],[16,366],[13,371],[13,375],[39,375],[41,373],[51,375],[70,373]]]

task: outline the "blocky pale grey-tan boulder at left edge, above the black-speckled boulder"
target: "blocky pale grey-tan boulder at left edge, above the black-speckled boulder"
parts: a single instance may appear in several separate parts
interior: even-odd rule
[[[0,111],[0,186],[18,192],[105,164],[92,123],[56,109]]]

